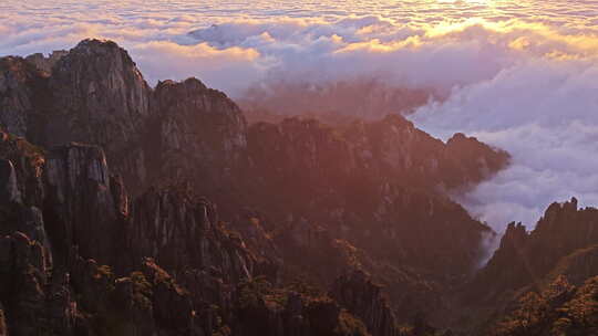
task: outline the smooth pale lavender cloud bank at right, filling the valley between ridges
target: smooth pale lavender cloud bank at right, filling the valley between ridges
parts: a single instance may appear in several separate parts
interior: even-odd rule
[[[463,130],[507,149],[513,166],[461,197],[502,231],[509,221],[534,227],[554,201],[598,204],[598,65],[535,61],[456,90],[413,116],[424,129]]]

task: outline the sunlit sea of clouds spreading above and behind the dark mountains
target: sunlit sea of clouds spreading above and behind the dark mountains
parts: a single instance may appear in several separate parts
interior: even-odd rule
[[[0,56],[85,38],[116,41],[151,84],[197,76],[239,99],[363,78],[433,92],[417,127],[513,156],[454,196],[473,216],[501,232],[553,201],[598,206],[598,1],[0,2]]]

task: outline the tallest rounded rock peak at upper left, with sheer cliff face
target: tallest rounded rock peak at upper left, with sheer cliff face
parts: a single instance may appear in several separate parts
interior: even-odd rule
[[[52,112],[47,146],[81,141],[101,146],[132,188],[145,180],[138,150],[150,116],[151,88],[128,53],[116,43],[85,40],[52,69]]]

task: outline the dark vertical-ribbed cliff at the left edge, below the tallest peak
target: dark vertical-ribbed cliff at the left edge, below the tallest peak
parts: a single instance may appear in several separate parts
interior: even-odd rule
[[[45,150],[11,135],[0,141],[0,233],[23,232],[45,249],[51,241],[53,261],[61,264],[72,245],[86,258],[114,261],[118,211],[126,200],[111,188],[101,148],[71,144]]]

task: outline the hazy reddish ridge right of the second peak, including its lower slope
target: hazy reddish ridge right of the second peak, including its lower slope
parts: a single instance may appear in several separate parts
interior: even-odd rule
[[[355,123],[343,133],[298,118],[256,124],[248,134],[248,203],[279,222],[305,217],[323,223],[374,256],[415,266],[419,260],[458,276],[471,271],[491,230],[434,190],[475,182],[508,156],[462,135],[451,144],[400,116]],[[464,161],[477,161],[460,165],[462,147],[472,147],[461,154]]]

